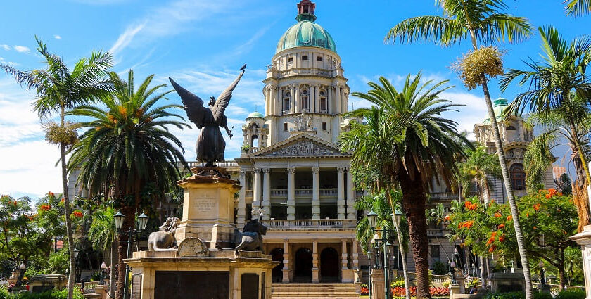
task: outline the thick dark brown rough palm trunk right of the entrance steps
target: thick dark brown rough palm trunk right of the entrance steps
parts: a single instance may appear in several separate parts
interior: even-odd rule
[[[409,237],[412,247],[415,272],[417,274],[417,298],[431,298],[429,293],[429,262],[427,219],[425,215],[426,196],[419,172],[417,177],[410,179],[404,170],[400,170],[400,189],[402,189],[402,205],[408,222]]]

